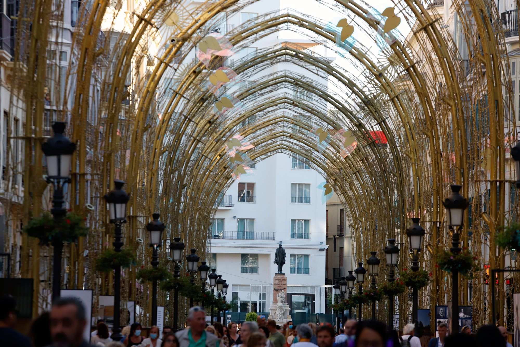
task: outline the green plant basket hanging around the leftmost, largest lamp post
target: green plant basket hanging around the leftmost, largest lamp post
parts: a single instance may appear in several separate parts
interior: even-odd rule
[[[40,244],[47,246],[54,242],[76,242],[80,236],[87,236],[85,217],[69,212],[60,219],[46,212],[40,217],[32,218],[23,227],[23,231],[32,238],[40,240]]]

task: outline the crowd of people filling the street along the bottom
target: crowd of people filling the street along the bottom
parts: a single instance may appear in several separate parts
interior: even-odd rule
[[[87,325],[85,308],[74,298],[59,298],[48,313],[33,321],[29,337],[13,329],[16,322],[16,301],[4,295],[0,301],[0,343],[8,347],[422,347],[414,336],[414,324],[407,324],[402,336],[387,329],[376,320],[347,320],[344,327],[335,332],[330,324],[314,323],[293,325],[288,321],[283,326],[275,320],[258,316],[255,321],[234,322],[223,326],[218,322],[206,323],[202,307],[194,306],[188,311],[187,327],[173,332],[157,326],[149,329],[148,337],[141,336],[138,323],[124,327],[122,338],[114,341],[105,324],[99,320],[92,332],[90,342],[83,333]],[[507,342],[504,327],[485,325],[476,333],[462,329],[448,336],[444,324],[438,326],[438,336],[430,339],[428,347],[512,347]]]

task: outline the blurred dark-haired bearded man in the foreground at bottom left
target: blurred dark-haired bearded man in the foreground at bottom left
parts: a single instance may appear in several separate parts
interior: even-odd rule
[[[50,336],[53,347],[89,347],[83,340],[87,321],[85,307],[75,298],[58,298],[50,311]]]

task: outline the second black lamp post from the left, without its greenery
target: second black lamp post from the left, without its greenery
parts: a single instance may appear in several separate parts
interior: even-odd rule
[[[114,232],[114,246],[115,252],[121,252],[123,241],[121,240],[123,235],[121,233],[121,225],[126,223],[126,204],[130,200],[130,196],[123,190],[124,181],[114,180],[115,189],[111,190],[105,195],[105,201],[108,203],[108,214],[110,222],[115,226]],[[120,295],[121,287],[121,267],[116,266],[114,276],[114,324],[112,328],[112,337],[115,341],[122,339],[120,334]]]

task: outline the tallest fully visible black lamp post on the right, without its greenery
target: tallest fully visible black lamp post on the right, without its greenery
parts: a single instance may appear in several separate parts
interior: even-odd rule
[[[515,165],[517,163],[515,162]],[[446,208],[448,228],[453,231],[450,251],[454,254],[458,254],[461,251],[459,247],[460,230],[464,225],[464,210],[468,205],[467,200],[459,193],[461,188],[461,185],[452,184],[451,194],[443,201],[443,205]],[[459,271],[451,271],[451,280],[451,333],[456,334],[459,332]]]

